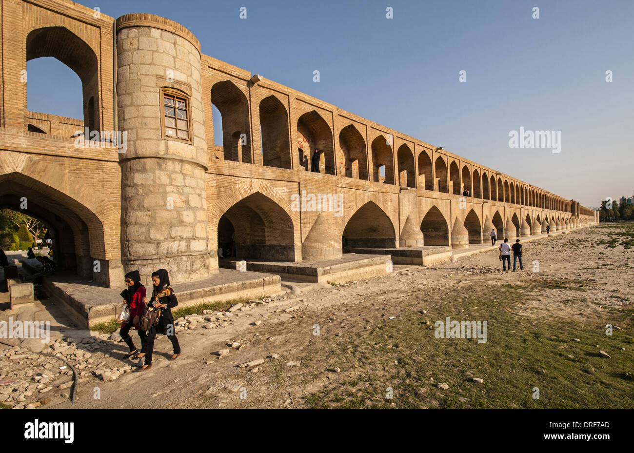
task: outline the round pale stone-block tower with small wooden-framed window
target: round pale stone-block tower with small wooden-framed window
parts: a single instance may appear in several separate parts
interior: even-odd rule
[[[150,14],[117,19],[121,247],[126,272],[146,284],[164,268],[174,283],[213,271],[207,229],[207,144],[200,44]],[[215,257],[215,253],[213,254]]]

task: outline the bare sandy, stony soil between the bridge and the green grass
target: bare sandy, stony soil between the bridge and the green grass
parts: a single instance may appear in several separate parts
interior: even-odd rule
[[[0,380],[24,380],[32,386],[30,376],[50,375],[55,370],[49,377],[51,384],[47,384],[53,389],[46,393],[53,399],[42,408],[308,407],[307,395],[369,373],[363,354],[352,348],[346,351],[353,340],[389,323],[391,317],[446,306],[452,301],[445,295],[456,289],[475,302],[483,288],[502,293],[509,287],[530,289],[548,282],[547,290],[534,293],[514,308],[515,316],[536,323],[574,317],[588,326],[597,326],[604,324],[605,310],[631,309],[634,290],[631,284],[624,284],[624,278],[633,275],[633,251],[598,244],[604,236],[605,228],[595,226],[526,243],[525,269],[519,272],[501,272],[498,253],[488,251],[434,268],[396,266],[391,275],[382,278],[325,285],[299,295],[273,298],[271,303],[252,304],[235,312],[234,321],[226,327],[197,327],[178,333],[183,354],[173,362],[166,360],[172,354],[171,345],[162,337],[155,344],[152,370],[121,374],[109,382],[84,376],[75,405],[67,397],[70,389],[56,386],[72,376],[60,373],[58,367],[63,364],[53,357],[22,352],[25,357],[19,364],[3,357]],[[581,291],[583,298],[578,298]],[[298,308],[286,311],[293,307]],[[505,309],[500,306],[500,310]],[[261,324],[255,326],[254,321]],[[136,333],[133,338],[139,345]],[[232,343],[239,345],[231,347]],[[122,360],[127,352],[124,343],[99,344],[90,349],[91,368],[82,372],[88,374],[103,361],[107,363],[102,369],[128,364],[136,367],[136,362]],[[214,355],[222,348],[228,348],[229,354]],[[342,355],[342,350],[346,354]],[[239,367],[256,359],[264,362]],[[54,366],[44,369],[46,363]],[[100,399],[94,398],[96,388]],[[22,405],[42,399],[38,392],[36,389],[34,397],[26,398]]]

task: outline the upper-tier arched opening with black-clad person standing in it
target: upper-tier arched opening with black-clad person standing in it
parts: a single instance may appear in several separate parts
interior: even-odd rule
[[[313,158],[314,150],[320,151],[320,173],[335,174],[335,148],[332,143],[332,129],[316,110],[304,113],[297,120],[297,141],[309,161]],[[308,144],[307,149],[306,143]],[[312,170],[312,167],[309,168]]]

